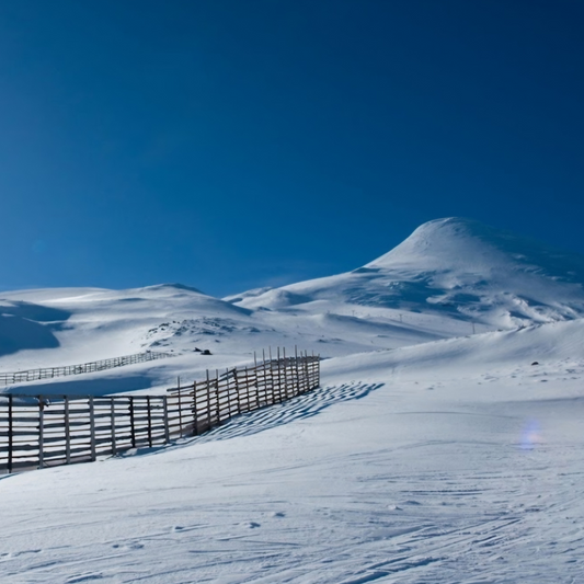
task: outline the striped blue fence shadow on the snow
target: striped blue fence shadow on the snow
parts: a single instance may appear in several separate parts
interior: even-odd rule
[[[319,388],[309,393],[297,396],[291,400],[270,405],[262,410],[240,414],[222,426],[218,426],[202,436],[197,436],[190,444],[216,440],[227,440],[238,436],[251,436],[295,420],[306,420],[318,415],[322,410],[351,400],[360,400],[383,383],[351,382],[342,386]]]

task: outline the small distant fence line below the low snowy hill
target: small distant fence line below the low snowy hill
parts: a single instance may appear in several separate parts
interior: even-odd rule
[[[51,379],[53,377],[62,377],[66,375],[89,374],[93,371],[103,371],[105,369],[113,369],[114,367],[123,367],[124,365],[133,365],[135,363],[145,363],[147,360],[164,359],[173,357],[171,353],[159,353],[154,351],[147,351],[146,353],[136,353],[135,355],[125,355],[123,357],[113,357],[111,359],[93,360],[91,363],[83,363],[81,365],[66,365],[65,367],[45,367],[43,369],[28,369],[25,371],[15,371],[9,374],[0,373],[0,383],[9,386],[12,383],[21,383],[23,381],[36,381],[38,379]]]

